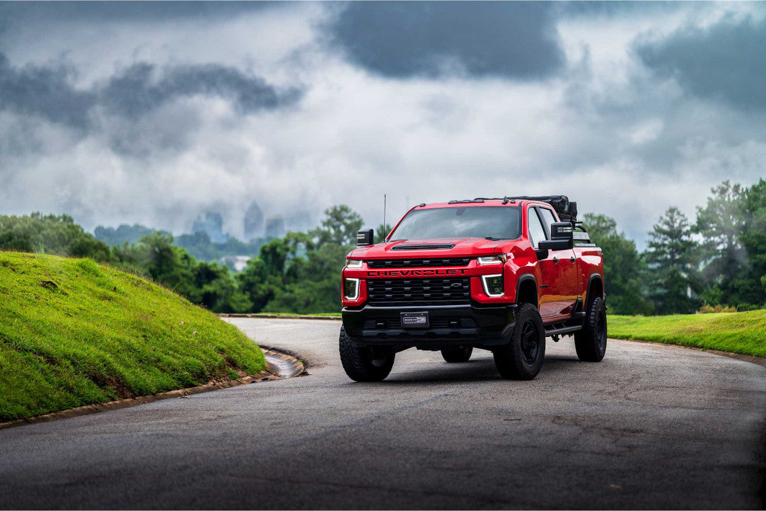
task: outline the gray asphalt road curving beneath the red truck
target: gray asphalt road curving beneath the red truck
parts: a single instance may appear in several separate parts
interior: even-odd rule
[[[339,323],[231,319],[311,375],[0,431],[4,508],[758,508],[766,369],[548,341],[532,382],[397,355],[351,382]]]

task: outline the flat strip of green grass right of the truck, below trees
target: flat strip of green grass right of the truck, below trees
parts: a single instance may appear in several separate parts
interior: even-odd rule
[[[766,310],[676,316],[608,316],[609,336],[766,357]]]

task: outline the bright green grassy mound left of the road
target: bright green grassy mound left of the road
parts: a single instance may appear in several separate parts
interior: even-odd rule
[[[164,287],[89,259],[0,252],[0,421],[263,367],[247,336]]]

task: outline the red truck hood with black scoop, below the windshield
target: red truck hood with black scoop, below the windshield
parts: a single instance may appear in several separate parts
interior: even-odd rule
[[[349,257],[358,259],[412,259],[427,257],[477,257],[499,254],[510,240],[489,241],[483,237],[453,237],[433,240],[388,241],[358,247]]]

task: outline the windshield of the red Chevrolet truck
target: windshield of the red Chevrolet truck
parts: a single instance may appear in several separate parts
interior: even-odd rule
[[[521,210],[517,207],[469,206],[410,211],[391,233],[389,241],[426,240],[439,237],[486,237],[512,240],[521,235]]]

